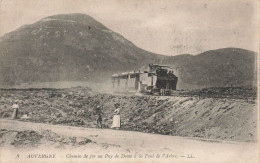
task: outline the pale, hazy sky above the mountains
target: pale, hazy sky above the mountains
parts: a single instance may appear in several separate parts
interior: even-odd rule
[[[83,13],[164,55],[258,51],[257,0],[0,0],[0,36],[56,14]]]

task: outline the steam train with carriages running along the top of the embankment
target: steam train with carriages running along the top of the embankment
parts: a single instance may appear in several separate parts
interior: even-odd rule
[[[147,71],[131,71],[112,75],[112,87],[117,92],[136,92],[151,95],[172,95],[178,77],[169,65],[149,64]]]

